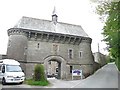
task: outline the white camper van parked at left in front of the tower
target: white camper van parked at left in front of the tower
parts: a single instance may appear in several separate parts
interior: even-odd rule
[[[13,59],[0,60],[0,81],[6,83],[23,83],[25,74],[23,73],[20,63]]]

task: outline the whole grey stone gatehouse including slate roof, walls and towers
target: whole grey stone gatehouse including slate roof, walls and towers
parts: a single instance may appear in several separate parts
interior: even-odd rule
[[[7,57],[21,63],[27,78],[32,77],[36,64],[44,65],[46,75],[57,73],[60,79],[70,79],[73,69],[83,70],[85,77],[94,72],[92,39],[81,26],[57,18],[55,12],[51,21],[22,17],[8,30]],[[55,62],[55,69],[50,69],[50,62]]]

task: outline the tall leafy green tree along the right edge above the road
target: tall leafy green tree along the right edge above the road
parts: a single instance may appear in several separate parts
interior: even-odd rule
[[[98,1],[97,14],[105,20],[103,27],[104,41],[108,45],[108,51],[115,60],[120,70],[120,1]]]

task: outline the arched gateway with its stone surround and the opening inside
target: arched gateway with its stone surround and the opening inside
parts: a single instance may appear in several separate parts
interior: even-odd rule
[[[44,59],[45,75],[50,74],[57,79],[66,78],[66,61],[60,56],[49,56]],[[51,70],[51,71],[50,71]]]

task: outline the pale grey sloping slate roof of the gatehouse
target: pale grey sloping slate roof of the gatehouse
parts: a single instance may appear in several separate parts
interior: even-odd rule
[[[14,26],[14,28],[88,37],[80,25],[73,25],[62,22],[57,22],[57,24],[54,24],[50,20],[36,19],[25,16],[22,17],[22,19]]]

